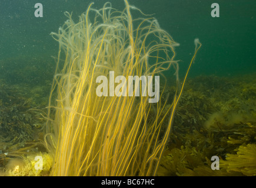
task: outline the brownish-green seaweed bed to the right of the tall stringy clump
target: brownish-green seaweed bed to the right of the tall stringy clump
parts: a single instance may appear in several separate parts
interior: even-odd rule
[[[255,89],[254,75],[189,79],[158,175],[255,176]]]

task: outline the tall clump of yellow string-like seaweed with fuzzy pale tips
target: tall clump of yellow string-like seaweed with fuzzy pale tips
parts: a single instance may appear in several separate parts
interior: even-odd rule
[[[60,51],[52,86],[57,98],[49,104],[48,119],[52,120],[46,129],[47,148],[54,156],[51,175],[157,173],[184,86],[178,89],[175,80],[172,102],[167,106],[167,99],[161,99],[167,82],[162,71],[174,68],[174,77],[178,78],[178,64],[174,61],[174,48],[178,44],[159,27],[155,18],[124,2],[124,11],[115,10],[110,3],[99,10],[91,4],[78,23],[66,12],[68,20],[58,33],[52,33]],[[131,10],[146,18],[133,19]],[[201,43],[195,39],[191,63],[200,47]],[[132,96],[124,97],[127,90],[117,84],[115,95],[98,96],[96,80],[98,76],[109,78],[110,71],[125,80],[128,76],[161,76],[159,103],[149,103],[149,96],[142,95],[142,89],[138,96],[132,90]],[[137,80],[134,85],[139,84]],[[159,83],[155,81],[155,85]],[[108,84],[103,89],[105,86]],[[51,110],[55,117],[51,116]]]

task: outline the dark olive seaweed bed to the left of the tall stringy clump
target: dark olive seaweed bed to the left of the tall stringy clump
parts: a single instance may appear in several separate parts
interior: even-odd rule
[[[17,62],[21,65],[15,66]],[[28,70],[25,62],[29,60],[13,58],[0,62],[0,175],[3,176],[14,175],[9,173],[10,160],[21,161],[26,156],[46,151],[43,127],[51,85],[47,84],[49,78],[45,75],[37,80],[36,72]],[[12,77],[14,73],[18,75]]]

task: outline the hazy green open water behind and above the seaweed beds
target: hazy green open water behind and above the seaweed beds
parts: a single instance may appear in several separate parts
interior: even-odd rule
[[[43,18],[35,18],[34,5],[44,6]],[[58,43],[49,33],[57,32],[67,19],[64,12],[78,18],[85,12],[87,0],[0,1],[0,61],[9,58],[43,57],[58,54]],[[95,0],[94,8],[102,8],[104,0]],[[123,10],[122,0],[109,0]],[[211,4],[220,5],[220,18],[211,17]],[[177,48],[181,72],[187,68],[194,52],[194,39],[202,48],[190,75],[235,76],[256,70],[256,1],[189,1],[129,0],[145,14],[154,14],[161,28],[181,45]],[[49,60],[50,61],[50,60]],[[53,68],[55,69],[55,68]],[[54,72],[54,70],[53,70]]]

